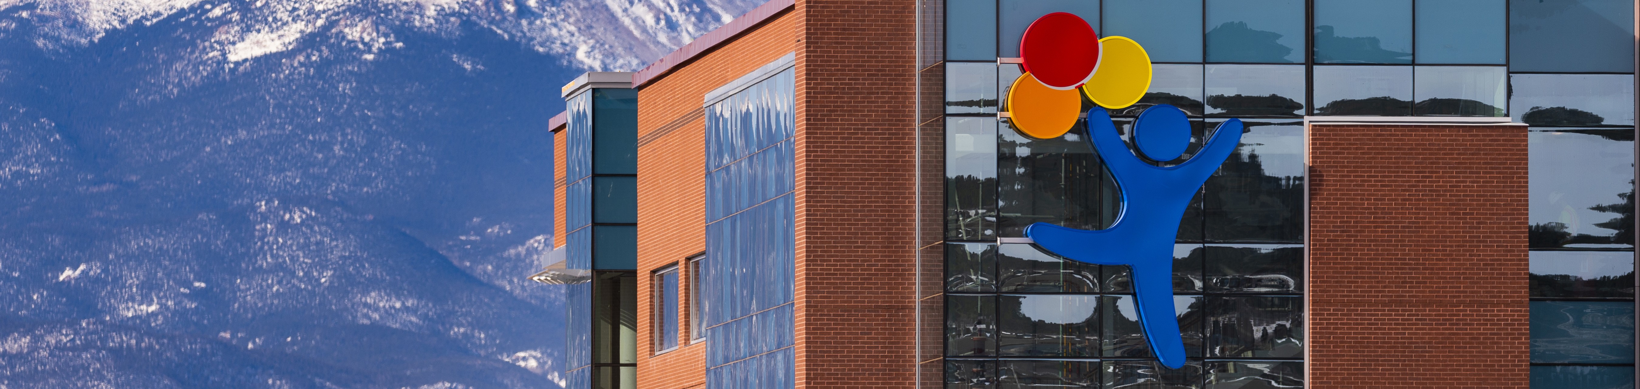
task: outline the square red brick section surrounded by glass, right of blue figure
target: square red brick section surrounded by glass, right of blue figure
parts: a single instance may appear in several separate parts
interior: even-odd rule
[[[1527,127],[1312,124],[1309,387],[1528,384]]]

